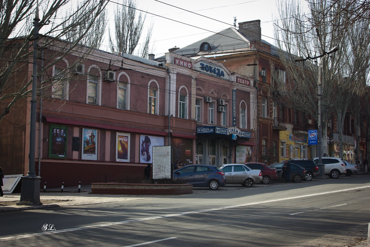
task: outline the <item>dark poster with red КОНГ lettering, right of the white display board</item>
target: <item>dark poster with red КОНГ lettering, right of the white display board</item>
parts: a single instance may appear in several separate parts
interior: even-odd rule
[[[176,164],[193,164],[193,140],[172,137],[172,158]]]

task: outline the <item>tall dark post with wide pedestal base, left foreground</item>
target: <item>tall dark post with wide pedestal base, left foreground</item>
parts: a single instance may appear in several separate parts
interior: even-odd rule
[[[38,58],[38,6],[34,18],[34,37],[33,37],[33,75],[32,75],[32,99],[31,99],[31,120],[30,120],[30,153],[29,170],[26,176],[22,177],[22,188],[20,201],[17,205],[41,205],[40,202],[40,179],[35,172],[35,143],[36,143],[36,91],[37,91],[37,58]]]

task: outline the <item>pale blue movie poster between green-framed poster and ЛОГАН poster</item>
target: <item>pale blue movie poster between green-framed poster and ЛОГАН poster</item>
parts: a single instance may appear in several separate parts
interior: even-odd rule
[[[97,160],[98,136],[97,130],[91,128],[82,129],[82,154],[83,160]]]

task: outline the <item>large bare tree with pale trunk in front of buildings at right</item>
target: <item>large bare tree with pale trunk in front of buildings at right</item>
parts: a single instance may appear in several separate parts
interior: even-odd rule
[[[281,101],[312,114],[317,123],[317,97],[321,97],[322,136],[319,138],[322,138],[322,153],[327,155],[327,120],[338,110],[343,123],[343,111],[345,113],[350,99],[357,93],[357,78],[363,71],[361,55],[353,49],[359,44],[350,43],[353,40],[348,35],[350,31],[355,32],[355,26],[342,26],[350,18],[347,16],[349,12],[327,15],[327,11],[342,11],[342,8],[327,1],[310,1],[309,14],[303,14],[297,1],[280,1],[278,8],[280,20],[276,23],[275,36],[279,40],[277,46],[281,64],[271,65],[272,88]],[[295,16],[295,21],[286,18],[289,16]],[[364,36],[361,37],[368,37],[369,30],[363,30]],[[368,40],[364,41],[367,41],[366,44],[358,48],[361,51],[369,44]],[[339,47],[336,53],[327,55],[335,46]],[[296,62],[298,57],[305,61]],[[365,64],[368,66],[369,60]],[[279,66],[286,71],[286,81],[282,79],[281,71],[275,70]],[[317,95],[319,81],[322,92]]]

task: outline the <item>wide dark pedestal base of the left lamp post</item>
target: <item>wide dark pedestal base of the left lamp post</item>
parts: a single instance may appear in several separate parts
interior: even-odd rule
[[[42,205],[40,202],[40,179],[37,176],[23,176],[21,198],[17,205]]]

